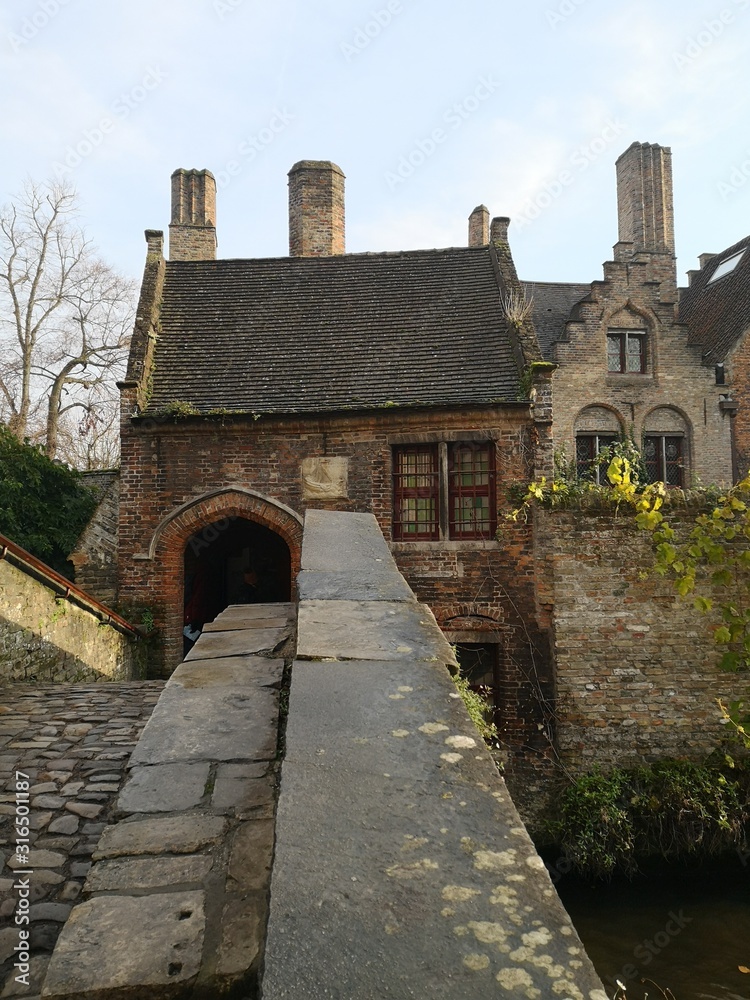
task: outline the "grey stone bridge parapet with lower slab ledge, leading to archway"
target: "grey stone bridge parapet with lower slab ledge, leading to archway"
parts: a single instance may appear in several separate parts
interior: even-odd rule
[[[204,631],[2,996],[606,1000],[371,515],[308,512],[299,594]]]

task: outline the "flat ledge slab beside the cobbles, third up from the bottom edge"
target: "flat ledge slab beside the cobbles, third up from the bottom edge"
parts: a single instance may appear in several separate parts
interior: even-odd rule
[[[226,827],[221,816],[196,812],[123,820],[104,830],[92,857],[99,861],[141,854],[194,854],[218,844]]]

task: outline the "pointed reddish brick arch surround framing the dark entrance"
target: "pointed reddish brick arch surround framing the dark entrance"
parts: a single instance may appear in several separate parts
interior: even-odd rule
[[[291,558],[291,599],[296,600],[302,551],[299,514],[277,500],[242,487],[214,490],[181,504],[162,519],[151,537],[148,553],[140,556],[156,564],[156,589],[165,597],[164,647],[169,671],[182,660],[185,547],[202,529],[234,518],[255,521],[286,542]]]

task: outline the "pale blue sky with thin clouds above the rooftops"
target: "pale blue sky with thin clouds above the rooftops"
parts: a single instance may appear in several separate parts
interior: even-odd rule
[[[0,0],[0,203],[64,180],[131,277],[178,167],[217,179],[220,257],[288,253],[287,174],[346,174],[347,251],[465,246],[586,282],[615,161],[672,149],[678,279],[750,230],[750,0]]]

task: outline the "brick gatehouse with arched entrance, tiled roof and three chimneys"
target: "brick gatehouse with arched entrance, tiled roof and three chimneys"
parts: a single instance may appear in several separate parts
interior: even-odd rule
[[[541,739],[530,528],[496,538],[507,486],[550,456],[549,366],[532,404],[536,337],[503,306],[508,220],[480,206],[467,247],[346,254],[344,176],[303,161],[290,256],[217,260],[215,202],[207,171],[173,175],[170,259],[148,231],[121,383],[119,596],[153,609],[158,669],[186,617],[294,597],[307,508],[367,511],[501,726]]]

